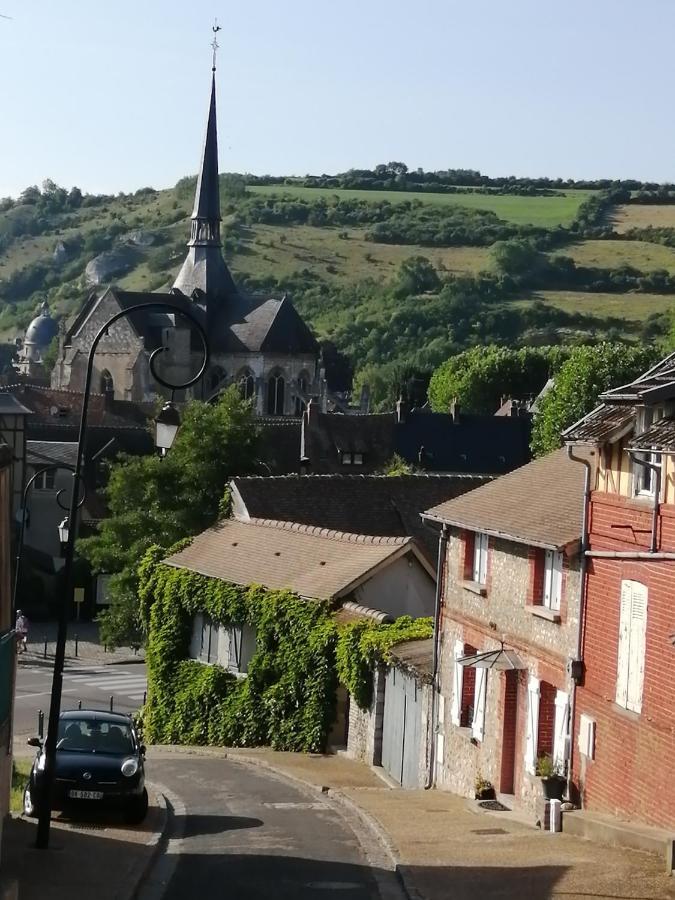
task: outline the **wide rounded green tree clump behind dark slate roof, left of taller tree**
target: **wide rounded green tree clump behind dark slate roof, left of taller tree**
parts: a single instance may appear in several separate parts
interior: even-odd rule
[[[429,402],[436,412],[447,412],[457,400],[467,412],[492,415],[502,397],[524,399],[538,394],[568,352],[559,347],[473,347],[436,369],[429,383]]]

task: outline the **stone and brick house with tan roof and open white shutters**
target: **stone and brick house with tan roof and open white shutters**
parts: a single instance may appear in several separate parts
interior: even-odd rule
[[[537,760],[564,770],[581,587],[583,467],[558,450],[424,513],[441,568],[437,786],[478,775],[534,810]]]

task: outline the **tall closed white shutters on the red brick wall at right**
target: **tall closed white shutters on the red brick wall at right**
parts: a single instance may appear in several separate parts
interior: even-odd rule
[[[622,581],[616,702],[636,713],[642,710],[646,632],[647,587],[639,581]]]

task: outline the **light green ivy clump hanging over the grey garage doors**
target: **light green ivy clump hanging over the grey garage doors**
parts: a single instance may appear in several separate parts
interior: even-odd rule
[[[380,625],[368,619],[340,629],[336,649],[338,678],[357,706],[368,709],[373,697],[373,670],[377,663],[392,661],[391,649],[402,641],[424,640],[433,635],[433,619],[401,616]]]

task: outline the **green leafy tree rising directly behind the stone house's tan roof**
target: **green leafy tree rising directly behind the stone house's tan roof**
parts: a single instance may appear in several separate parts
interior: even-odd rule
[[[658,358],[653,346],[597,344],[575,347],[542,397],[532,430],[532,452],[542,456],[560,446],[560,435],[597,406],[603,391],[632,381]]]

